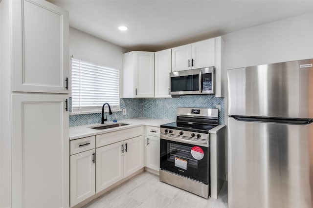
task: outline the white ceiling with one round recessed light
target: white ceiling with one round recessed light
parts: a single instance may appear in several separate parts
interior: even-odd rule
[[[48,1],[69,11],[71,27],[144,51],[201,41],[313,11],[313,0]],[[129,30],[119,31],[119,25]]]

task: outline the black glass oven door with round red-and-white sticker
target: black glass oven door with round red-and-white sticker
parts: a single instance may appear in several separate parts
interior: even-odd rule
[[[209,141],[160,134],[160,168],[209,184]]]

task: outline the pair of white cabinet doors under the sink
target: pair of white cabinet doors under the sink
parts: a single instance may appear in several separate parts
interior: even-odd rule
[[[96,148],[96,192],[144,167],[143,136]]]

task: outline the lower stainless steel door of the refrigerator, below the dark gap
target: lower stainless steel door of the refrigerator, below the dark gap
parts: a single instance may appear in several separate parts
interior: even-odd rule
[[[228,118],[228,207],[313,208],[313,124]]]

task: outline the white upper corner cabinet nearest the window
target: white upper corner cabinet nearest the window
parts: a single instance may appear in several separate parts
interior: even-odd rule
[[[123,54],[122,98],[155,96],[155,53],[132,51]]]

